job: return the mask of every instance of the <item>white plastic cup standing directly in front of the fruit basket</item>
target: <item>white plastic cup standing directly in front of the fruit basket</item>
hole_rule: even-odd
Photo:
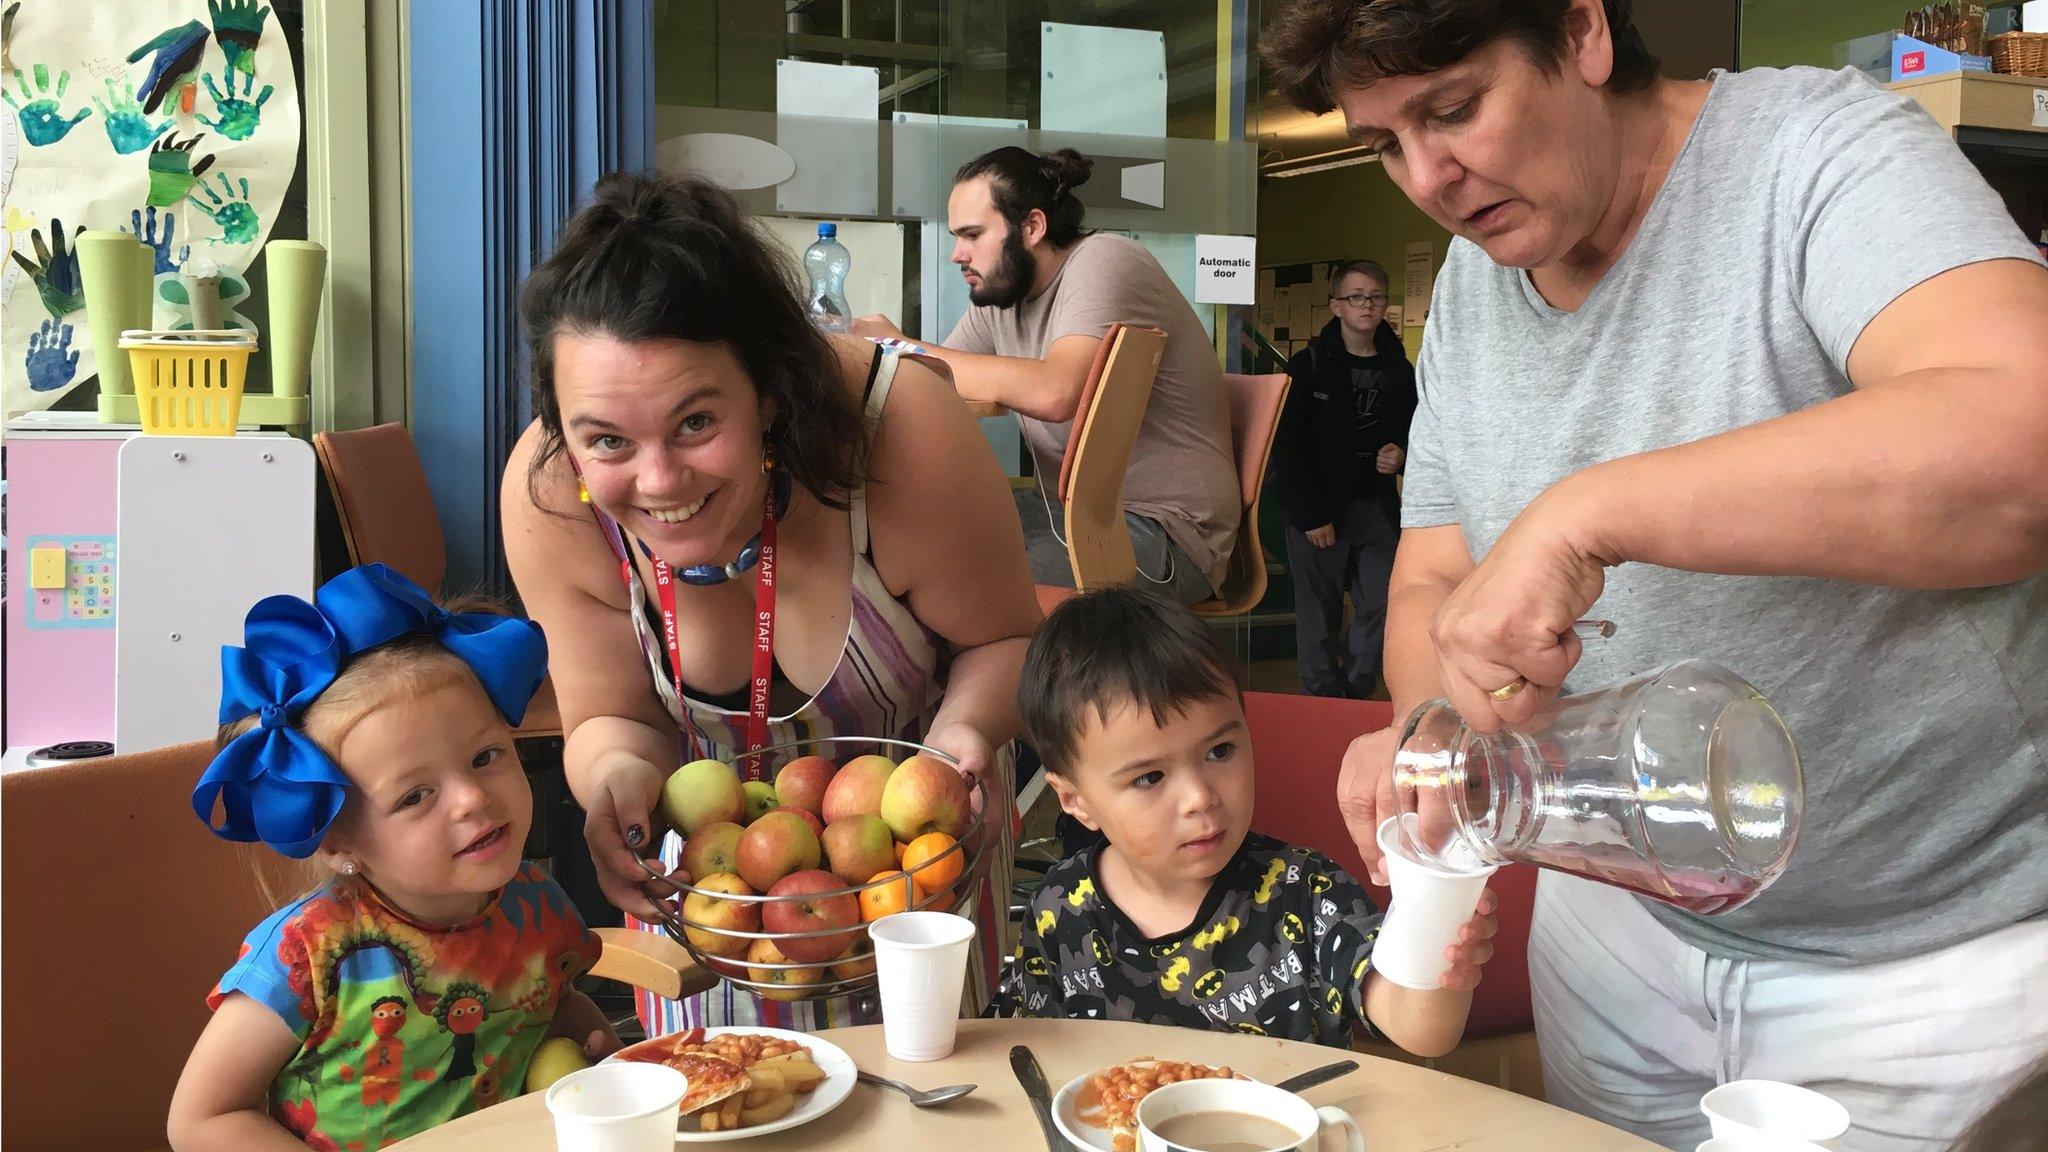
[[[952,912],[895,912],[868,924],[883,994],[883,1045],[895,1060],[952,1056],[975,922]]]

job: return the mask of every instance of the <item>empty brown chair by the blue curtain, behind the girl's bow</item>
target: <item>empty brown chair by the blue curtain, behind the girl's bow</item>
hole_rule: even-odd
[[[334,494],[350,564],[387,564],[430,592],[449,574],[449,545],[440,535],[426,467],[403,424],[377,424],[350,433],[313,433],[319,469]],[[518,738],[561,736],[555,683],[526,705]]]

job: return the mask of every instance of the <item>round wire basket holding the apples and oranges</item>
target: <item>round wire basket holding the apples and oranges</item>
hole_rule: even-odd
[[[834,775],[838,775],[840,769],[868,754],[891,754],[891,758],[901,754],[901,763],[926,756],[948,769],[958,769],[958,760],[936,748],[874,736],[793,740],[735,756],[729,763],[741,779],[756,763],[764,767],[762,779],[776,779],[799,758],[823,756],[836,765]],[[834,888],[774,896],[750,888],[735,890],[737,875],[721,873],[717,879],[692,875],[688,883],[674,881],[680,898],[672,906],[674,916],[659,920],[659,927],[698,963],[770,1000],[815,1000],[872,990],[874,951],[866,933],[872,922],[866,914],[870,904],[887,908],[887,898],[893,896],[901,902],[899,910],[905,912],[932,910],[977,918],[975,894],[987,877],[989,851],[997,840],[983,834],[985,806],[987,789],[977,779],[969,785],[967,826],[952,845],[928,859],[913,861],[909,867],[903,867],[899,859],[893,865],[895,871],[885,871],[862,883],[840,879]],[[897,851],[901,853],[901,849],[899,842]],[[823,912],[807,912],[805,906]],[[852,916],[846,912],[848,906],[854,910]],[[838,910],[836,922],[817,929],[774,931],[768,924],[768,920],[803,922],[803,916],[813,914],[831,918],[831,910]],[[774,955],[762,955],[758,941],[768,941]],[[791,957],[791,949],[799,957]]]

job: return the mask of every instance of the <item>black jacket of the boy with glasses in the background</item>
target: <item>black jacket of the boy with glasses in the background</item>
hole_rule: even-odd
[[[1286,365],[1294,383],[1274,439],[1274,488],[1296,531],[1335,523],[1343,504],[1354,498],[1376,498],[1389,515],[1399,508],[1395,478],[1378,474],[1372,457],[1380,445],[1401,445],[1407,451],[1409,422],[1415,420],[1415,367],[1384,320],[1372,344],[1384,375],[1372,402],[1372,420],[1364,428],[1352,396],[1352,367],[1358,361],[1343,351],[1335,318]]]

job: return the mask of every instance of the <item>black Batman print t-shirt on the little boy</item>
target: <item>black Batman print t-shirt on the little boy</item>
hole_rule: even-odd
[[[1032,896],[1006,1009],[1350,1047],[1380,912],[1329,857],[1251,832],[1180,933],[1145,937],[1102,892],[1094,847]]]

